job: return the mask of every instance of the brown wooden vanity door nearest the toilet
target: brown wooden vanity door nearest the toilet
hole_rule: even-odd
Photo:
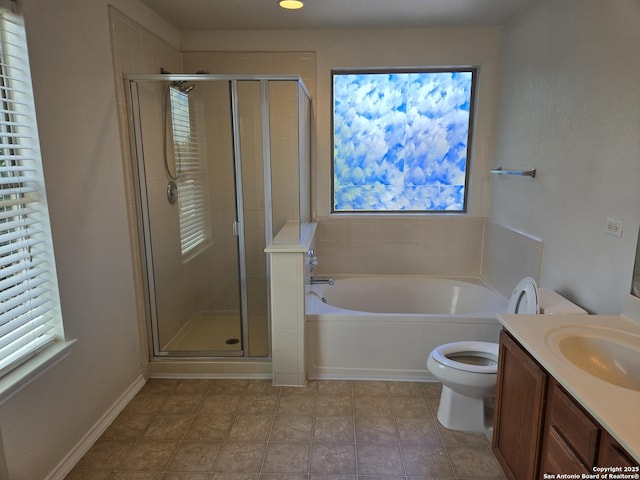
[[[493,451],[512,480],[537,479],[547,374],[509,334],[500,334]]]

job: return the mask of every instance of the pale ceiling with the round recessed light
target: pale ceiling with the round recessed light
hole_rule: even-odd
[[[502,25],[535,0],[141,0],[180,30],[412,28]]]

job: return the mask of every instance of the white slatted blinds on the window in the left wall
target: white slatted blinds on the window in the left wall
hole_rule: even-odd
[[[64,340],[22,17],[0,9],[0,377]]]

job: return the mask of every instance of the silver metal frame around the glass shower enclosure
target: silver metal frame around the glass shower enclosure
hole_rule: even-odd
[[[238,269],[240,282],[240,327],[242,349],[207,350],[202,352],[167,352],[163,351],[158,339],[158,312],[155,291],[155,276],[153,268],[153,256],[151,239],[148,232],[151,231],[150,215],[147,197],[147,185],[144,164],[144,145],[142,141],[142,126],[140,104],[138,98],[138,82],[211,82],[226,81],[229,83],[229,95],[231,103],[233,162],[235,171],[236,188],[236,222],[233,228],[237,228],[238,245]],[[305,93],[309,93],[298,75],[221,75],[221,74],[127,74],[124,76],[125,91],[129,102],[129,135],[134,170],[134,184],[136,185],[136,204],[138,207],[138,230],[140,232],[140,252],[143,269],[143,293],[145,295],[145,317],[147,326],[147,340],[151,358],[171,359],[185,361],[194,359],[235,358],[237,360],[267,359],[272,356],[271,351],[271,295],[270,282],[267,281],[267,356],[251,357],[249,345],[249,319],[247,299],[247,272],[246,272],[246,245],[244,235],[244,210],[242,191],[242,152],[240,148],[240,120],[238,112],[238,82],[259,81],[260,84],[260,111],[261,111],[261,135],[262,135],[262,161],[264,173],[264,216],[265,216],[265,245],[273,239],[273,212],[271,196],[271,139],[269,128],[269,82],[270,81],[295,81],[302,85]],[[299,100],[298,100],[299,101]],[[265,262],[267,280],[271,278],[269,262]]]

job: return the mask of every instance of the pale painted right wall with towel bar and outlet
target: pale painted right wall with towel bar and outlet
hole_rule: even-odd
[[[640,219],[640,3],[543,0],[505,31],[491,217],[544,243],[540,283],[619,313]],[[607,217],[622,238],[604,233]]]

